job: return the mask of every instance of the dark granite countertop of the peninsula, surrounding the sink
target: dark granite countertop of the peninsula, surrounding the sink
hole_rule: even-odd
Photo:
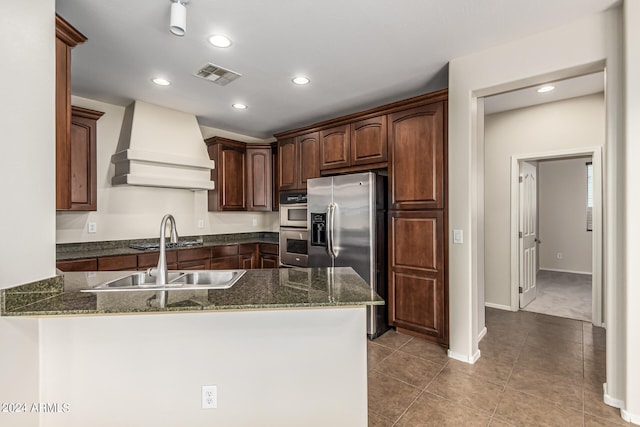
[[[382,305],[350,267],[247,270],[229,289],[81,292],[134,272],[69,272],[0,291],[2,316],[69,316]],[[159,294],[166,292],[161,307]]]

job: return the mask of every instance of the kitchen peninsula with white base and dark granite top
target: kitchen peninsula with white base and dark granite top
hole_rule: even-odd
[[[81,292],[131,273],[1,291],[2,316],[39,318],[40,399],[69,408],[46,425],[367,424],[365,309],[383,301],[351,268],[248,270],[164,306],[155,289]]]

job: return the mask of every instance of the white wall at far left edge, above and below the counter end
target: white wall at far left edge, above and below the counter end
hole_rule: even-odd
[[[0,288],[55,272],[55,11],[53,0],[0,2]],[[0,317],[0,402],[38,401],[38,321]],[[37,426],[37,413],[0,412]]]

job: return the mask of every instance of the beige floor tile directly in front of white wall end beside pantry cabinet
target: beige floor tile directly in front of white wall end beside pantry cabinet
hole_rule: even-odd
[[[445,368],[429,384],[427,391],[489,414],[498,405],[502,386]]]

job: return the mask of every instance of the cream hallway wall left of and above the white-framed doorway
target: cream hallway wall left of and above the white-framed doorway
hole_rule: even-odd
[[[511,157],[602,146],[604,119],[601,93],[485,117],[485,302],[511,305]]]

